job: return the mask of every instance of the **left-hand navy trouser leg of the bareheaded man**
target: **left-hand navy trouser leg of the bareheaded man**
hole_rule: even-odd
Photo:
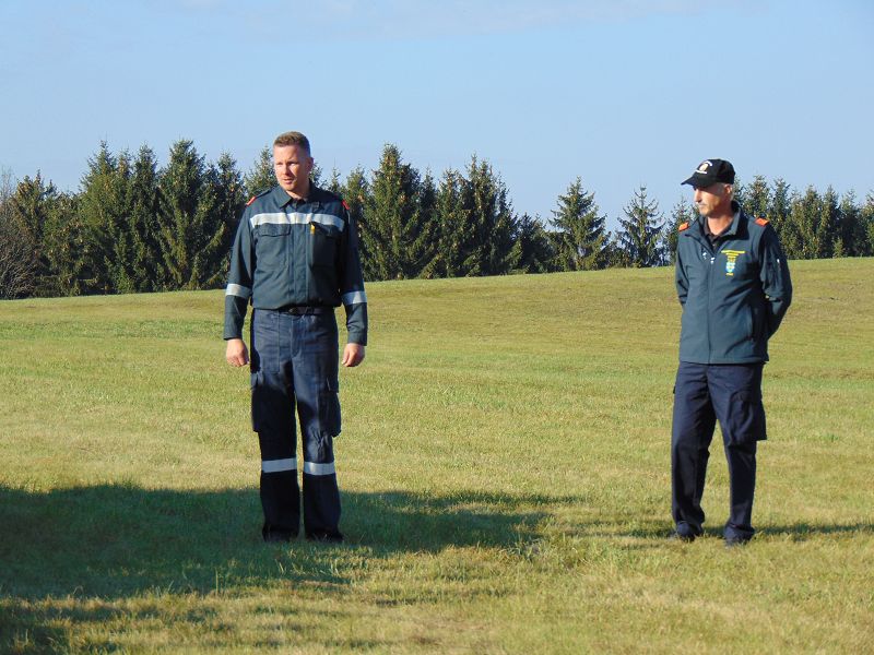
[[[294,537],[300,524],[300,489],[295,458],[294,403],[280,361],[281,331],[275,312],[252,317],[252,427],[261,449],[263,536]],[[286,337],[287,338],[287,337]]]

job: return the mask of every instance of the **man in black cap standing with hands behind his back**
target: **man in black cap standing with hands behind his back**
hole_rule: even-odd
[[[676,249],[683,323],[671,440],[672,537],[693,541],[702,533],[705,474],[719,419],[731,485],[724,531],[731,547],[754,533],[756,444],[766,439],[761,369],[768,338],[792,300],[792,283],[777,233],[733,200],[729,162],[701,162],[683,183],[695,189],[700,217],[680,226]]]

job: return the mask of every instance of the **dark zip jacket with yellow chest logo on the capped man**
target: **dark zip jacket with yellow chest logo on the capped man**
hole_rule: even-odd
[[[680,360],[756,364],[792,301],[792,282],[777,233],[736,203],[731,226],[711,245],[698,218],[681,226],[676,289],[683,305]]]

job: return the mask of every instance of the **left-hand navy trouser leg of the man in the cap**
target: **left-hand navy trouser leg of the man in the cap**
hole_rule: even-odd
[[[701,498],[714,428],[707,366],[681,362],[671,430],[671,513],[678,528],[686,524],[694,534],[705,520]]]

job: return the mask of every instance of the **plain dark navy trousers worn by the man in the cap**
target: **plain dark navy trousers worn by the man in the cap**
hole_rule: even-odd
[[[702,532],[701,497],[718,419],[731,486],[724,535],[727,539],[753,536],[756,444],[766,439],[763,366],[680,362],[671,436],[671,504],[677,533]]]

